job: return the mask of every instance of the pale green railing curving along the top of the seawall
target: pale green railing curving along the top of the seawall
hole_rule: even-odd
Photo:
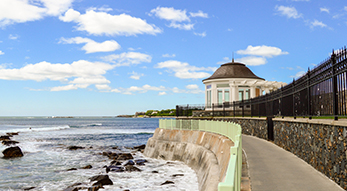
[[[210,120],[160,119],[159,128],[176,130],[198,130],[224,135],[234,142],[230,148],[229,165],[225,181],[218,184],[219,191],[240,191],[242,172],[241,126],[232,122]]]

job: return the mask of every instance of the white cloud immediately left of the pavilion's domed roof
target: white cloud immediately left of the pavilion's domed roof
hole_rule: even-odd
[[[215,67],[196,67],[191,66],[188,63],[183,63],[176,60],[169,60],[165,62],[160,62],[156,66],[156,68],[167,68],[168,72],[174,72],[177,78],[181,79],[199,79],[199,78],[207,78],[211,74],[206,72],[197,72],[197,71],[215,71],[217,68]]]

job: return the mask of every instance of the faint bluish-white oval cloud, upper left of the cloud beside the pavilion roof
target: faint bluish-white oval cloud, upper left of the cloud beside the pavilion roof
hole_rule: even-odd
[[[101,59],[115,63],[115,66],[130,66],[140,64],[142,62],[151,62],[152,57],[147,54],[139,52],[124,52],[122,54],[111,54],[109,56],[102,57]]]

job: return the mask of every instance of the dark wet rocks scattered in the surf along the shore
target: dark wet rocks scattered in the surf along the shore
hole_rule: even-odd
[[[11,140],[11,138],[15,135],[18,135],[18,133],[8,133],[6,135],[0,136],[0,140],[2,141],[2,144],[5,146],[8,146],[4,151],[4,157],[3,159],[11,160],[12,158],[17,157],[23,157],[24,154],[21,151],[21,149],[16,146],[19,142]],[[92,165],[86,165],[83,167],[73,167],[66,169],[65,171],[77,171],[77,170],[83,170],[83,169],[94,169],[94,168],[100,168],[99,172],[95,174],[94,176],[89,177],[83,182],[77,182],[74,184],[71,184],[65,188],[61,188],[63,191],[78,191],[78,190],[87,190],[87,191],[97,191],[100,189],[105,188],[104,186],[112,186],[114,185],[114,180],[112,177],[109,176],[109,174],[113,173],[133,173],[133,172],[141,172],[141,168],[143,169],[144,166],[146,166],[148,162],[145,158],[138,158],[138,156],[135,156],[136,153],[144,152],[145,145],[139,145],[134,146],[132,148],[126,148],[127,151],[123,151],[122,149],[119,149],[117,146],[110,147],[109,149],[104,148],[104,151],[100,151],[99,153],[95,153],[96,155],[100,157],[104,157],[105,165],[98,165],[99,167],[93,167]],[[82,147],[82,146],[66,146],[65,149],[68,151],[76,151],[80,149],[91,149]],[[24,156],[25,157],[25,156]],[[170,165],[172,162],[167,162],[168,165]],[[102,166],[102,167],[101,167]],[[141,167],[141,168],[140,168]],[[60,171],[58,172],[60,173]],[[160,173],[158,170],[152,170],[152,174]],[[131,176],[131,175],[130,175]],[[171,180],[163,180],[162,183],[160,183],[160,186],[168,185],[168,184],[175,184],[173,179],[175,177],[184,176],[184,174],[172,174]],[[120,187],[121,188],[121,187]],[[36,190],[34,185],[23,187],[22,190]],[[119,189],[119,187],[117,187]],[[123,191],[129,191],[129,189],[124,189]]]

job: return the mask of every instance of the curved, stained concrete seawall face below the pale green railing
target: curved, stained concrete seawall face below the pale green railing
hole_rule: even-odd
[[[224,180],[233,145],[219,134],[158,128],[148,140],[144,155],[184,162],[197,173],[199,190],[210,191],[218,190],[218,183]]]

